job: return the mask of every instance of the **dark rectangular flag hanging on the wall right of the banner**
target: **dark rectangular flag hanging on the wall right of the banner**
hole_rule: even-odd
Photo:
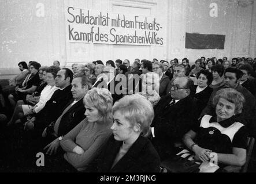
[[[185,48],[224,49],[225,35],[185,33]]]

